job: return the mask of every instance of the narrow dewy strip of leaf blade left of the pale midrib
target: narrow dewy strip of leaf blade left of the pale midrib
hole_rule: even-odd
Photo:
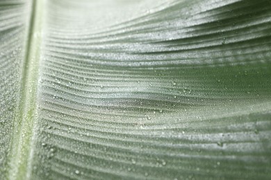
[[[8,152],[21,98],[28,12],[26,1],[0,1],[0,179],[6,179]]]

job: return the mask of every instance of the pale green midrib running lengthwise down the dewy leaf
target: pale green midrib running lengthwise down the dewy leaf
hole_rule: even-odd
[[[38,85],[38,64],[40,61],[40,43],[42,26],[43,0],[30,2],[28,30],[26,32],[26,45],[24,62],[22,66],[21,94],[15,116],[15,127],[10,144],[10,168],[8,179],[26,179],[31,152],[31,137],[36,109],[36,96]]]

